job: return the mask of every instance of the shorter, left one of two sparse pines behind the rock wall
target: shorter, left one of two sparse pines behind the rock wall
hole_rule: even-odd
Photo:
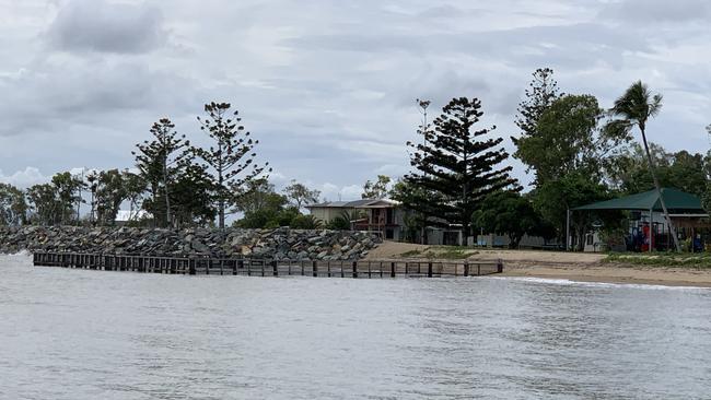
[[[143,141],[132,152],[136,156],[136,166],[141,177],[149,183],[152,201],[144,202],[153,214],[155,221],[163,226],[173,226],[171,208],[171,186],[177,174],[193,162],[190,142],[185,136],[178,136],[175,125],[168,118],[154,122],[150,130],[152,141]],[[158,202],[162,197],[162,204]]]

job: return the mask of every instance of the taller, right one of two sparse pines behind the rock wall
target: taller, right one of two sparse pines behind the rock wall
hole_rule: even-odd
[[[209,149],[196,149],[196,154],[207,164],[214,184],[220,228],[224,227],[225,209],[235,202],[235,191],[265,172],[269,163],[255,163],[255,145],[250,133],[240,125],[238,111],[230,111],[229,103],[205,105],[206,118],[198,117],[200,129],[214,142]],[[271,172],[271,168],[268,169]]]

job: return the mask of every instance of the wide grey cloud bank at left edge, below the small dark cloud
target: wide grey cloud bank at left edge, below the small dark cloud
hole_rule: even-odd
[[[138,61],[43,61],[0,78],[0,136],[103,123],[127,110],[167,114],[186,109],[197,93],[184,78],[151,71]]]

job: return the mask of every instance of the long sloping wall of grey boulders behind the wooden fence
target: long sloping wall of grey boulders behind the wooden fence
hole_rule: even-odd
[[[133,227],[0,227],[0,252],[72,251],[143,256],[356,260],[377,246],[362,232],[277,230],[147,230]]]

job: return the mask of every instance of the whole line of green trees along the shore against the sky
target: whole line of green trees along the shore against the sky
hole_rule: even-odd
[[[431,121],[430,102],[417,105],[423,118],[419,139],[407,143],[412,170],[394,183],[381,175],[363,187],[363,198],[403,203],[410,240],[424,240],[427,227],[456,226],[464,237],[481,231],[508,234],[512,246],[525,234],[562,243],[568,209],[655,186],[710,203],[711,153],[667,152],[646,141],[662,96],[642,82],[604,108],[593,95],[562,94],[552,70],[536,70],[518,104],[513,155],[496,127],[479,126],[478,98],[453,98]],[[269,164],[257,163],[258,140],[230,104],[207,104],[198,127],[210,140],[207,148],[194,146],[170,119],[160,119],[151,137],[137,144],[132,170],[60,173],[25,191],[2,184],[0,224],[112,225],[128,204],[129,224],[222,227],[225,215],[237,212],[242,217],[235,224],[244,227],[323,226],[302,214],[320,193],[296,181],[276,192]],[[511,177],[511,156],[533,175],[529,190]],[[82,213],[85,203],[89,211]],[[343,215],[328,227],[349,228],[352,217]],[[622,221],[619,213],[576,213],[572,228],[580,244],[593,224],[602,223],[611,236]]]

